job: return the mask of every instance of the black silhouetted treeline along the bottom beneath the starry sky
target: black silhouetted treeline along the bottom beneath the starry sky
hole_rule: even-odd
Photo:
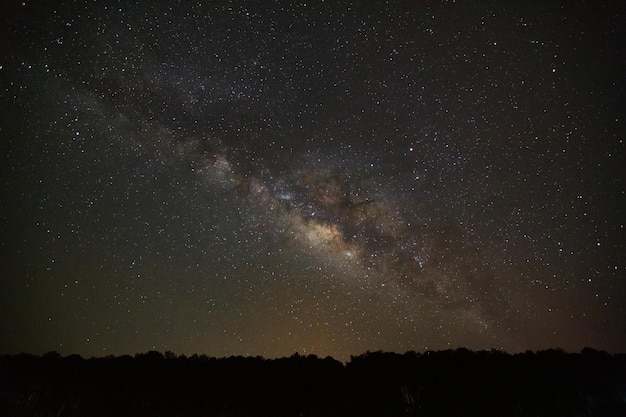
[[[626,416],[626,355],[0,356],[0,416]]]

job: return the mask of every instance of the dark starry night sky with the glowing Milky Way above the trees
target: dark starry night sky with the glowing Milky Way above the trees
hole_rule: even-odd
[[[8,3],[0,353],[626,351],[623,2]]]

